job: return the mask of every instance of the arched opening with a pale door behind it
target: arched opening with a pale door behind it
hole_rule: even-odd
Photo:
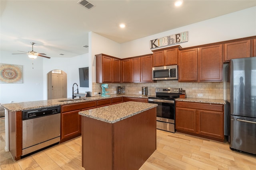
[[[67,98],[67,74],[62,70],[47,73],[47,99]]]

